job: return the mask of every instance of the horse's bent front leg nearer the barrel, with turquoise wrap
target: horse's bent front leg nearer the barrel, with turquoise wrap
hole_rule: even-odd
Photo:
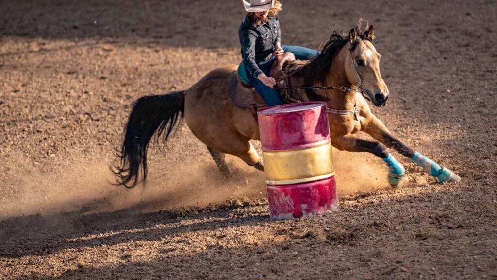
[[[388,152],[388,148],[376,141],[368,141],[360,139],[354,135],[347,134],[343,136],[336,136],[331,139],[331,143],[338,149],[355,152],[370,152],[383,159],[389,166],[388,182],[396,186],[404,178],[406,169],[404,166],[395,159],[395,157]]]

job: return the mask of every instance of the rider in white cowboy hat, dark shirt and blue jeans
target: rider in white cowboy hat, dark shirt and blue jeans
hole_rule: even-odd
[[[300,46],[281,45],[278,0],[243,0],[248,11],[238,36],[242,44],[242,59],[250,83],[268,106],[281,104],[278,92],[273,89],[276,81],[268,77],[275,58],[290,51],[296,59],[307,60],[318,51]]]

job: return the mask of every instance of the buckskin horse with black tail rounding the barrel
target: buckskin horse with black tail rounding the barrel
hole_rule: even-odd
[[[388,181],[392,186],[403,181],[405,168],[389,148],[410,158],[440,182],[459,181],[457,174],[397,139],[371,113],[368,101],[383,107],[389,99],[389,90],[380,74],[381,56],[373,45],[374,38],[373,25],[364,32],[357,25],[350,29],[348,36],[333,30],[315,58],[304,65],[287,65],[292,68],[291,73],[287,72],[288,84],[306,88],[288,90],[290,100],[326,102],[332,146],[380,157],[389,168]],[[167,145],[169,136],[183,121],[207,146],[225,177],[233,174],[225,161],[226,153],[263,170],[259,155],[249,142],[260,139],[257,121],[248,110],[237,107],[228,94],[228,83],[237,75],[237,66],[215,68],[186,90],[140,97],[130,113],[122,146],[117,149],[117,163],[111,167],[117,184],[130,188],[145,182],[147,150],[154,135],[155,142]],[[359,131],[375,140],[360,139],[355,135]]]

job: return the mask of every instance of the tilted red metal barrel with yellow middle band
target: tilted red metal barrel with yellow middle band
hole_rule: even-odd
[[[257,115],[271,218],[337,210],[326,103],[273,106]]]

